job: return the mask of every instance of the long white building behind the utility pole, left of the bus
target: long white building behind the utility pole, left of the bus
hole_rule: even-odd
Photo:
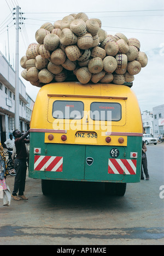
[[[26,93],[26,87],[19,79],[20,131],[29,127],[34,101]],[[9,139],[14,130],[15,116],[15,71],[0,52],[0,141]]]

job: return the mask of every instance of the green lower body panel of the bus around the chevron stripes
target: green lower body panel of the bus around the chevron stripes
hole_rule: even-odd
[[[77,181],[109,181],[123,183],[137,183],[140,181],[142,137],[128,136],[128,146],[98,146],[44,143],[44,133],[31,133],[30,135],[30,164],[29,177],[34,179],[50,180],[77,180]],[[34,147],[41,148],[42,156],[63,157],[62,172],[48,172],[34,170]],[[130,158],[130,152],[138,152],[136,174],[109,174],[108,160],[110,150],[119,150],[119,159]],[[86,158],[92,157],[93,163],[88,166]],[[117,159],[117,158],[115,158]]]

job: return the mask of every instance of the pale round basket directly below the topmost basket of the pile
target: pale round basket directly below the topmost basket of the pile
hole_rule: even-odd
[[[86,34],[86,24],[82,19],[74,19],[70,24],[71,31],[78,37],[84,36]]]

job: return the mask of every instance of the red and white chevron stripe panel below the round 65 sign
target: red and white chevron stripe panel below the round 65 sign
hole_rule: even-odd
[[[137,160],[110,158],[108,161],[109,174],[136,174]]]

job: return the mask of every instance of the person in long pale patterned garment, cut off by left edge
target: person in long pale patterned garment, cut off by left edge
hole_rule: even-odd
[[[3,206],[9,206],[11,193],[5,179],[8,175],[7,161],[4,156],[3,146],[0,141],[0,198],[3,199]]]

